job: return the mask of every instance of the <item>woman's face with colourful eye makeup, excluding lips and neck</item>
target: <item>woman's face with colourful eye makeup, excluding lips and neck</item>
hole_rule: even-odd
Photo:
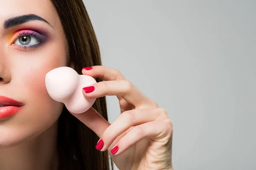
[[[0,96],[23,102],[0,119],[0,148],[49,129],[63,104],[47,93],[45,75],[67,66],[67,41],[50,0],[0,0]]]

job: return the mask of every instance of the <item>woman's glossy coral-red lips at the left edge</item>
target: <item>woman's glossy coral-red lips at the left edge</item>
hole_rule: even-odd
[[[16,114],[23,108],[24,104],[5,96],[0,96],[0,119]]]

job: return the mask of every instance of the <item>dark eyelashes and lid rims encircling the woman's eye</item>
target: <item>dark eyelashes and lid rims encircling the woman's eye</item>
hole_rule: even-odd
[[[35,37],[38,39],[38,43],[36,43],[35,45],[15,45],[15,42],[21,37],[21,36],[24,36],[24,35],[29,35],[29,36],[32,36],[32,37]],[[17,35],[15,35],[15,40],[13,41],[12,45],[15,45],[17,46],[18,48],[22,48],[24,50],[26,50],[27,48],[29,49],[34,49],[34,48],[37,48],[39,46],[41,46],[43,44],[43,42],[46,40],[46,38],[43,36],[43,35],[40,35],[38,33],[36,33],[35,31],[32,31],[32,30],[24,30],[20,33],[18,33]]]

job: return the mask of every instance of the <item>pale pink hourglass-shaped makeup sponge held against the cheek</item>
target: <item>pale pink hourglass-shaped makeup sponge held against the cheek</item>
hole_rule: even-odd
[[[63,102],[72,113],[83,113],[93,105],[96,99],[86,98],[82,88],[95,83],[93,77],[79,75],[70,67],[55,68],[45,76],[49,96],[57,102]]]

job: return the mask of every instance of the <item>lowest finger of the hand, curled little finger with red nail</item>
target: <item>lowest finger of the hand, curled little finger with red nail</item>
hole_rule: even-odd
[[[165,145],[171,139],[172,131],[171,119],[159,119],[147,122],[132,128],[113,148],[109,148],[109,150],[111,149],[110,152],[112,154],[119,155],[144,138],[151,138]]]

